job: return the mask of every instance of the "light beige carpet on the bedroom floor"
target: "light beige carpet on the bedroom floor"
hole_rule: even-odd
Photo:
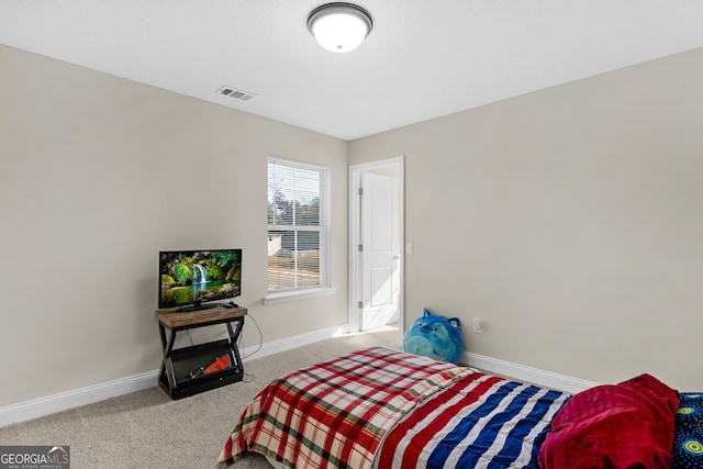
[[[72,469],[214,468],[235,421],[272,379],[371,346],[399,348],[399,331],[380,327],[252,357],[245,362],[244,381],[178,401],[154,387],[0,427],[0,445],[69,445]],[[247,456],[235,467],[270,469],[256,456]]]

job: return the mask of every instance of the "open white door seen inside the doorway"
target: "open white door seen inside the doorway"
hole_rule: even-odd
[[[361,331],[400,319],[398,179],[361,175]]]

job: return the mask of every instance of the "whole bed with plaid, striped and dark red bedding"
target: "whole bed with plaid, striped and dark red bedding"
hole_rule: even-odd
[[[303,469],[703,468],[701,404],[648,375],[572,397],[372,347],[268,384],[217,466],[258,453]]]

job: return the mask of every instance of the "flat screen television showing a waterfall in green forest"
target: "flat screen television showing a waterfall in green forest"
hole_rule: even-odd
[[[242,249],[161,250],[158,308],[197,311],[242,291]]]

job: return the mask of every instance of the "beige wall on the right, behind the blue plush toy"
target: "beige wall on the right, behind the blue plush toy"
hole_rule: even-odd
[[[405,155],[405,319],[469,351],[703,389],[703,49],[350,143]],[[471,319],[484,322],[471,332]]]

